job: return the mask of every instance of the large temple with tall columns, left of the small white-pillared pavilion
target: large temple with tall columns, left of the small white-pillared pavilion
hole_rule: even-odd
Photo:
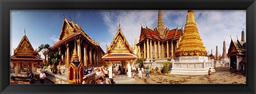
[[[52,50],[58,51],[61,55],[62,59],[59,63],[61,67],[67,69],[71,61],[71,56],[74,53],[74,48],[77,49],[78,61],[83,63],[83,66],[99,66],[105,64],[101,59],[105,52],[101,49],[99,43],[86,35],[81,29],[81,26],[78,27],[77,23],[74,23],[71,18],[68,21],[64,16],[59,41],[51,47]]]

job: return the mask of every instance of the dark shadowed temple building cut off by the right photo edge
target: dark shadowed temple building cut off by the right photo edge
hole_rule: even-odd
[[[231,42],[228,49],[229,57],[229,69],[233,68],[236,70],[245,70],[246,69],[246,42],[245,42],[245,33],[242,31],[241,41],[233,41],[231,38]]]

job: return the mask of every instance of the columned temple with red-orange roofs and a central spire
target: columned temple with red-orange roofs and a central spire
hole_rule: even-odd
[[[138,58],[146,58],[146,62],[153,62],[153,53],[156,56],[156,61],[167,61],[175,57],[175,50],[179,47],[179,41],[182,35],[182,28],[174,28],[170,30],[164,27],[162,11],[158,11],[158,24],[153,30],[148,27],[141,26],[140,39],[137,44],[138,53],[134,53]]]

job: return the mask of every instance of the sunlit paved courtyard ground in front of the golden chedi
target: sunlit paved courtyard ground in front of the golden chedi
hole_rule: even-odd
[[[215,67],[216,72],[212,73],[211,78],[207,75],[188,76],[188,75],[162,75],[150,74],[150,78],[143,74],[142,79],[135,74],[136,81],[118,84],[246,84],[245,72],[236,72],[228,67]]]

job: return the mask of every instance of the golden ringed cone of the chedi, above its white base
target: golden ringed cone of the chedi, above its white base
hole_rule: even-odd
[[[181,56],[207,56],[204,43],[200,38],[196,27],[195,17],[192,10],[188,10],[187,20],[179,48],[175,51],[175,55]]]

